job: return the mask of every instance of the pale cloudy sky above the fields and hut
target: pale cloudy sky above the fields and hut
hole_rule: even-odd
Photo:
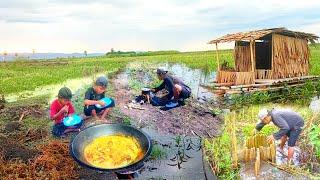
[[[320,1],[0,1],[0,53],[200,51],[228,33],[274,27],[319,36]]]

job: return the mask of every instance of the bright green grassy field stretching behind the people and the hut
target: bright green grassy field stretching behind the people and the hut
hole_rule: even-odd
[[[311,74],[320,74],[320,45],[311,46]],[[221,62],[233,64],[231,50],[219,53]],[[152,61],[183,63],[190,68],[206,71],[216,69],[216,54],[214,51],[186,52],[154,56],[114,57],[104,56],[94,58],[72,58],[50,61],[14,61],[0,63],[0,94],[10,94],[36,87],[57,84],[66,79],[90,76],[96,73],[111,73],[125,67],[132,61]]]

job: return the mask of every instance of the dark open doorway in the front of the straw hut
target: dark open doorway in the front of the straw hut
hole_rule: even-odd
[[[256,69],[271,70],[272,43],[270,40],[255,42]]]

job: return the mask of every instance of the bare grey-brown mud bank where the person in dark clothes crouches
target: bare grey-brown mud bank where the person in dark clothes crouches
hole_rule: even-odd
[[[130,101],[139,94],[129,87],[127,75],[118,74],[112,83],[120,111],[134,119],[138,126],[152,126],[161,134],[214,137],[221,133],[223,122],[211,113],[207,104],[200,104],[190,98],[186,105],[167,111],[151,104],[143,104],[139,108],[128,108]]]

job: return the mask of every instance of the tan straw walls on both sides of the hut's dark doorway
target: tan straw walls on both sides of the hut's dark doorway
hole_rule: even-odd
[[[273,34],[272,51],[272,69],[255,68],[255,78],[281,79],[308,75],[310,51],[307,40]],[[255,46],[253,52],[255,63]],[[234,49],[235,70],[237,72],[251,71],[250,58],[249,44],[239,45],[236,43]]]

